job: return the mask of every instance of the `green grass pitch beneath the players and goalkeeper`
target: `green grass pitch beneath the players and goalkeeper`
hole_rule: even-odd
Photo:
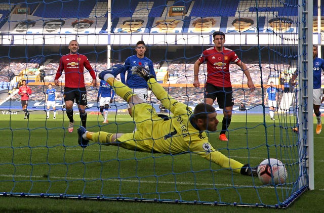
[[[103,124],[101,118],[101,115],[88,114],[88,130],[112,133],[134,130],[129,115],[110,113],[108,124]],[[221,118],[218,115],[218,119]],[[23,120],[22,114],[2,115],[0,192],[273,204],[285,200],[296,179],[295,167],[288,166],[288,182],[291,184],[275,190],[272,186],[262,186],[258,178],[233,174],[196,154],[142,153],[96,143],[82,149],[77,144],[78,115],[74,115],[74,119],[74,132],[69,134],[68,120],[61,112],[55,120],[46,120],[44,114],[31,113],[29,120]],[[293,145],[296,133],[277,120],[273,122],[266,117],[263,122],[263,119],[261,114],[233,115],[230,142],[219,141],[218,132],[211,133],[212,146],[252,166],[267,158],[268,153],[273,158],[296,161],[297,153],[294,152],[297,149]],[[220,129],[220,124],[218,127]],[[321,135],[314,136],[315,177],[322,175],[320,169],[316,169],[323,161],[321,141]],[[323,188],[323,184],[315,179],[316,190],[305,194],[315,191],[323,194]],[[306,195],[297,202],[303,202]],[[17,198],[0,199],[11,202]],[[52,200],[50,202],[57,202]],[[73,205],[75,201],[72,200],[64,202]]]

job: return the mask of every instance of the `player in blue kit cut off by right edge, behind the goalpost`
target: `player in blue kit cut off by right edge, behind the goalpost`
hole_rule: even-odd
[[[318,54],[317,46],[313,45],[313,110],[317,120],[316,134],[320,134],[322,131],[322,122],[320,118],[319,107],[320,104],[323,103],[324,101],[324,96],[323,97],[321,96],[320,87],[321,87],[322,71],[324,71],[324,59],[318,58],[317,54]],[[293,75],[291,82],[294,82],[294,80],[297,78],[297,75],[298,73],[296,72]]]

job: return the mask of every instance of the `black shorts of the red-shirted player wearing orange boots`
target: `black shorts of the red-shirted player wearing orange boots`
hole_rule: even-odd
[[[221,109],[234,105],[233,89],[231,87],[216,87],[213,84],[206,83],[205,98],[211,98],[214,101],[217,98],[218,106]]]

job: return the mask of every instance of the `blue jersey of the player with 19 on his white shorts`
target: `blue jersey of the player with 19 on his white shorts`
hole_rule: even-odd
[[[150,70],[151,75],[156,77],[154,67],[153,67],[153,62],[147,57],[138,58],[136,55],[130,56],[126,59],[124,65],[130,67],[126,71],[120,73],[120,78],[121,78],[120,80],[121,82],[127,84],[129,88],[132,89],[148,88],[147,82],[144,80],[144,78],[132,74],[132,67],[134,66],[143,66],[146,69]],[[126,72],[127,72],[127,79],[125,81]]]

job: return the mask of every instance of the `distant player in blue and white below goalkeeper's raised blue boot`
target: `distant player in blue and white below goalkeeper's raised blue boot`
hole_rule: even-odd
[[[115,96],[115,91],[112,87],[104,80],[100,81],[100,87],[98,91],[97,102],[99,102],[100,113],[103,117],[103,123],[108,123],[107,116],[109,110],[109,104],[112,103],[113,97]],[[105,109],[105,112],[103,111]]]

